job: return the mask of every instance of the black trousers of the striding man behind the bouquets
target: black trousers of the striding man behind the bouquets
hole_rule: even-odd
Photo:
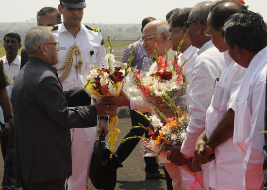
[[[137,114],[134,110],[130,111],[131,113],[131,120],[132,120],[132,126],[138,126],[138,123],[141,123],[145,127],[149,127],[149,121],[142,117],[141,115]],[[144,113],[148,114],[148,113]],[[150,135],[148,135],[148,131],[144,130],[142,128],[132,128],[131,131],[126,134],[124,138],[131,137],[134,135],[137,136],[143,136],[145,133],[145,137],[150,138]],[[131,139],[129,141],[126,141],[124,143],[120,143],[120,145],[117,148],[116,154],[119,161],[123,162],[125,159],[132,153],[135,146],[139,143],[139,138],[137,139]],[[144,157],[146,162],[146,168],[145,171],[149,173],[159,173],[159,165],[156,163],[155,157]]]

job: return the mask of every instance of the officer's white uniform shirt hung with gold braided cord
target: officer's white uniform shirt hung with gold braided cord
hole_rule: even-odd
[[[87,67],[93,64],[101,66],[101,58],[104,58],[105,48],[104,45],[101,45],[102,36],[100,32],[95,32],[87,29],[84,25],[81,24],[80,31],[78,32],[76,38],[74,38],[65,28],[64,23],[58,25],[58,29],[51,31],[56,40],[60,43],[58,52],[59,62],[55,65],[57,68],[60,68],[64,65],[67,53],[69,48],[76,43],[78,48],[82,51],[81,61],[83,64],[80,69],[78,69],[78,74],[84,74]],[[94,51],[94,54],[91,56],[90,51]],[[80,56],[78,55],[78,61],[80,61]],[[75,65],[78,64],[76,61],[76,55],[73,57],[73,63],[71,71],[65,81],[62,82],[63,90],[68,90],[73,87],[82,87],[83,83],[80,80],[79,76],[77,77],[77,71]],[[60,77],[65,70],[57,71],[58,76]]]

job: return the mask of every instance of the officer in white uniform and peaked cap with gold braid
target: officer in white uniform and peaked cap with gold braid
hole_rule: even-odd
[[[105,57],[105,49],[99,30],[86,27],[81,24],[83,8],[86,7],[83,0],[62,1],[58,10],[63,14],[63,23],[52,30],[56,40],[60,43],[58,52],[59,62],[55,66],[61,68],[72,45],[77,45],[81,50],[80,55],[73,55],[71,70],[65,80],[60,77],[64,70],[57,70],[63,90],[73,87],[82,87],[83,83],[78,75],[83,75],[86,69],[92,66],[100,66],[101,58]],[[82,64],[79,64],[82,61]],[[80,62],[81,63],[81,62]],[[76,69],[77,65],[79,66]],[[75,67],[76,66],[76,67]],[[106,122],[100,120],[100,122]],[[71,129],[72,138],[72,175],[67,179],[68,190],[86,190],[89,168],[94,148],[97,127],[84,129]]]

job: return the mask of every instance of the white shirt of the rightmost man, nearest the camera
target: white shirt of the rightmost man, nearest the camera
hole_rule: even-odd
[[[234,146],[243,160],[243,190],[260,190],[263,175],[267,47],[252,58],[234,102]],[[241,187],[240,187],[241,189]]]

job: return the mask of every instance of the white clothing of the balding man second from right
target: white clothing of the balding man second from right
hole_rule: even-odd
[[[246,68],[241,67],[224,52],[226,68],[216,81],[213,99],[206,114],[206,135],[217,124],[234,102],[241,85]],[[233,137],[215,148],[216,160],[209,163],[209,187],[215,190],[238,190],[242,186],[242,159],[233,144]],[[234,183],[229,183],[234,181]]]

